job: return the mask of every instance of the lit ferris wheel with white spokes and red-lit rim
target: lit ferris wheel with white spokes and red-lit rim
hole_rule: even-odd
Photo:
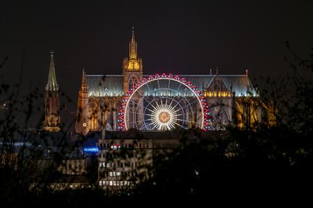
[[[120,130],[173,130],[207,126],[207,107],[190,82],[165,73],[143,78],[127,93]]]

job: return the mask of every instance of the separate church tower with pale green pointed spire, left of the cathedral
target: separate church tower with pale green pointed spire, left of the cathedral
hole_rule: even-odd
[[[58,83],[54,70],[54,52],[50,52],[50,69],[45,91],[45,125],[44,130],[58,132],[60,128],[60,101],[58,98]]]

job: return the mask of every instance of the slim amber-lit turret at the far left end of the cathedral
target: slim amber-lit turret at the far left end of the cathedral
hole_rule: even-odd
[[[87,135],[89,132],[89,118],[88,118],[88,83],[86,80],[86,73],[83,69],[81,76],[81,88],[79,89],[79,98],[77,101],[77,121],[75,130],[81,135]]]

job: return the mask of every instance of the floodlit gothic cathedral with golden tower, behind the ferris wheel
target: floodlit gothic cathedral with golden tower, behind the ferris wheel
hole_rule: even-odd
[[[88,75],[83,71],[76,132],[86,135],[90,131],[124,130],[121,127],[122,119],[120,119],[122,104],[125,102],[123,100],[129,90],[136,88],[138,82],[143,83],[143,80],[149,77],[150,75],[143,75],[143,60],[138,58],[133,28],[129,42],[129,58],[125,58],[122,62],[121,75]],[[244,127],[261,121],[262,104],[259,103],[257,90],[248,78],[248,71],[243,75],[220,75],[216,69],[215,73],[210,71],[205,75],[179,75],[179,77],[196,86],[199,96],[209,108],[207,112],[209,118],[206,118],[206,122],[209,123],[207,130],[223,130],[227,125]],[[168,88],[172,87],[175,86],[168,86]],[[154,92],[156,91],[153,89],[142,89],[132,97],[132,103],[129,105],[136,108],[137,114],[133,116],[129,112],[125,116],[125,122],[129,128],[136,128],[136,125],[132,124],[135,119],[138,121],[144,119],[145,114],[141,109],[141,106],[144,106],[142,96],[146,97],[145,100],[149,96],[163,96]],[[172,94],[170,96],[178,98],[188,95]],[[196,116],[193,119],[196,120]],[[193,119],[188,120],[188,128],[194,126],[192,125]]]

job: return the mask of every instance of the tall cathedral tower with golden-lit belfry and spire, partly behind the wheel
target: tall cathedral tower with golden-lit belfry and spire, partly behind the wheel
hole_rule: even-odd
[[[137,56],[137,42],[135,40],[134,27],[131,31],[131,41],[129,42],[129,58],[123,60],[124,94],[132,89],[138,81],[143,80],[143,60]],[[127,126],[129,128],[141,128],[143,121],[143,99],[142,92],[138,91],[134,95],[134,103],[129,103],[131,111],[127,116]],[[135,119],[135,118],[138,119]]]

